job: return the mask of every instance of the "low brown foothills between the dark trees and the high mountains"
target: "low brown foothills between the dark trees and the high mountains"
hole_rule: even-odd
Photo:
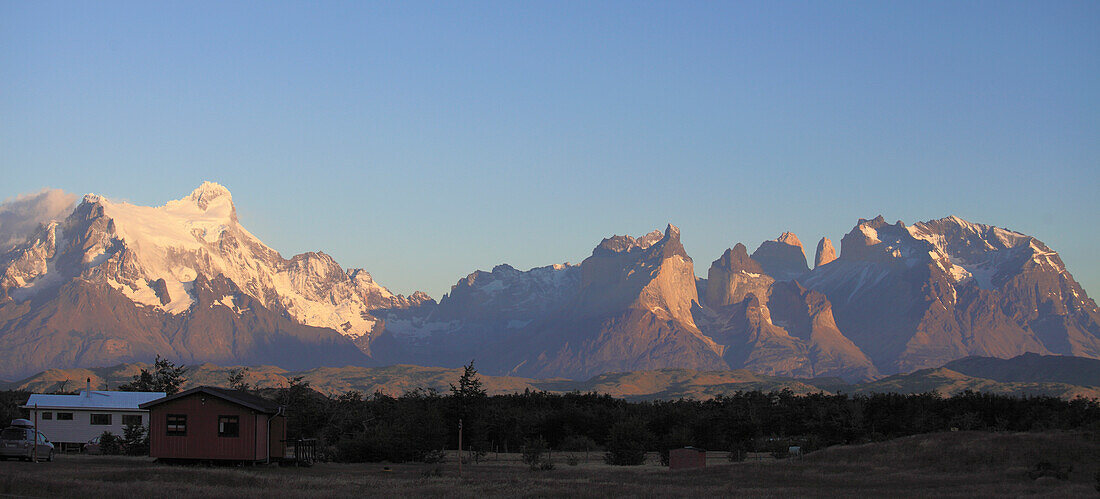
[[[1021,369],[1035,363],[1027,354],[1011,359],[969,357],[967,362],[994,362]],[[1056,357],[1056,356],[1047,356]],[[1070,362],[1087,364],[1091,372],[1100,370],[1100,361],[1068,357]],[[1066,382],[1059,379],[1058,362],[1067,357],[1043,358],[1043,373],[1033,380],[1003,381],[974,376],[952,369],[950,365],[894,375],[876,381],[846,384],[837,378],[784,378],[756,374],[746,369],[700,370],[662,368],[641,372],[602,373],[583,380],[564,378],[525,378],[515,376],[482,375],[481,379],[490,395],[506,395],[531,391],[548,392],[596,392],[630,400],[674,400],[679,398],[710,399],[737,391],[781,391],[795,395],[850,393],[869,395],[876,392],[924,393],[936,392],[952,396],[964,390],[991,393],[1025,396],[1053,396],[1065,399],[1076,397],[1100,398],[1100,387]],[[129,382],[141,369],[150,364],[120,364],[110,367],[48,369],[24,379],[0,382],[0,389],[19,389],[33,392],[50,392],[59,389],[75,391],[85,387],[90,379],[94,389],[109,389]],[[198,385],[224,386],[231,370],[241,366],[219,366],[211,363],[191,365],[184,388]],[[1034,367],[1031,367],[1034,369]],[[1035,370],[1033,370],[1034,373]],[[393,365],[384,367],[318,367],[305,370],[288,370],[277,366],[249,366],[243,381],[254,388],[283,388],[289,379],[301,376],[310,387],[330,397],[358,390],[365,395],[383,392],[400,396],[417,389],[447,392],[450,384],[463,373],[461,367],[422,367]],[[1040,380],[1046,378],[1052,380]]]

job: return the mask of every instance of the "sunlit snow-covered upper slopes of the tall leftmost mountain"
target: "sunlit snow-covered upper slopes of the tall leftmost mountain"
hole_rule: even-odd
[[[66,221],[73,226],[64,229],[87,241],[54,244],[42,235],[41,250],[23,252],[28,262],[0,267],[0,284],[12,288],[12,296],[26,297],[78,274],[105,279],[140,307],[178,314],[195,303],[197,278],[220,275],[268,309],[351,337],[371,334],[376,322],[371,310],[407,303],[366,271],[345,271],[323,253],[284,258],[241,226],[232,195],[216,182],[160,207],[99,195],[84,201]],[[79,254],[58,260],[59,246]],[[58,268],[55,260],[79,265]]]

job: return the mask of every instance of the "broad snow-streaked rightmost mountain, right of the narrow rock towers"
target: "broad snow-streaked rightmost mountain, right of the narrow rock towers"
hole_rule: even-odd
[[[957,217],[860,220],[840,256],[800,279],[883,372],[968,355],[1100,358],[1097,304],[1041,241]]]

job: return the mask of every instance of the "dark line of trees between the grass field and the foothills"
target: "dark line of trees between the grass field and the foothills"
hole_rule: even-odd
[[[301,377],[284,388],[254,389],[246,369],[231,372],[227,385],[286,407],[288,440],[317,439],[328,457],[345,462],[439,459],[463,450],[587,451],[609,464],[640,464],[646,452],[695,446],[728,451],[732,459],[751,452],[785,455],[838,444],[875,442],[919,433],[1100,429],[1100,401],[1056,397],[1011,397],[964,391],[919,395],[738,391],[707,400],[627,401],[594,392],[529,391],[486,395],[473,363],[449,392],[416,389],[400,396],[348,391],[328,397]],[[122,389],[175,392],[186,369],[157,359]],[[25,392],[0,393],[0,414]],[[127,435],[130,436],[130,435]],[[138,436],[138,435],[134,435]],[[140,439],[140,436],[138,436]],[[129,439],[127,439],[129,440]],[[140,447],[138,447],[140,448]],[[535,459],[537,462],[537,459]],[[532,464],[532,467],[536,464]]]

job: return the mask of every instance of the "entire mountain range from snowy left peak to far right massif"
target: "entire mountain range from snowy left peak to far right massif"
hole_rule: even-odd
[[[31,226],[22,223],[20,226]],[[0,377],[147,362],[416,364],[525,378],[666,368],[867,381],[968,356],[1100,358],[1100,311],[1038,240],[957,217],[859,220],[811,268],[798,236],[697,277],[668,225],[580,264],[498,265],[438,302],[249,233],[228,189],[88,195],[0,255]]]

